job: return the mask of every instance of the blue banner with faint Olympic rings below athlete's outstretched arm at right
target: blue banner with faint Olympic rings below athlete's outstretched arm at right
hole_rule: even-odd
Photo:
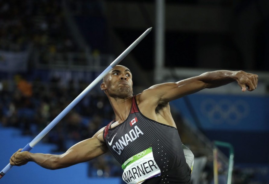
[[[204,130],[269,131],[269,97],[192,94],[187,97]],[[170,102],[195,124],[183,98]]]

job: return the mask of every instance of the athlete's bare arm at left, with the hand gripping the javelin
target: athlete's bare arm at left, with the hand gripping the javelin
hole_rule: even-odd
[[[61,169],[92,160],[107,152],[107,147],[103,140],[103,130],[104,128],[100,129],[92,138],[75,144],[61,155],[30,153],[28,151],[20,152],[20,149],[11,156],[10,164],[21,166],[32,161],[46,169]]]

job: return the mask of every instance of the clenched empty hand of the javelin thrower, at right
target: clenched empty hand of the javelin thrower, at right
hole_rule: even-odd
[[[236,81],[238,85],[241,87],[242,92],[253,91],[257,88],[258,85],[258,75],[252,73],[246,73],[244,71],[238,71],[236,73]]]

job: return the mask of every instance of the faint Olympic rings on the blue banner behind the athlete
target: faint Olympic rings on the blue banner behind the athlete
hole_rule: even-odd
[[[216,102],[212,98],[201,102],[201,112],[208,117],[213,124],[238,124],[248,115],[249,105],[243,100],[220,100]]]

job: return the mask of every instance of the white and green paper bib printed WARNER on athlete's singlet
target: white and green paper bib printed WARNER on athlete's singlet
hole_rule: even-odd
[[[153,158],[152,147],[130,157],[122,164],[122,169],[122,179],[128,184],[140,184],[161,174]]]

